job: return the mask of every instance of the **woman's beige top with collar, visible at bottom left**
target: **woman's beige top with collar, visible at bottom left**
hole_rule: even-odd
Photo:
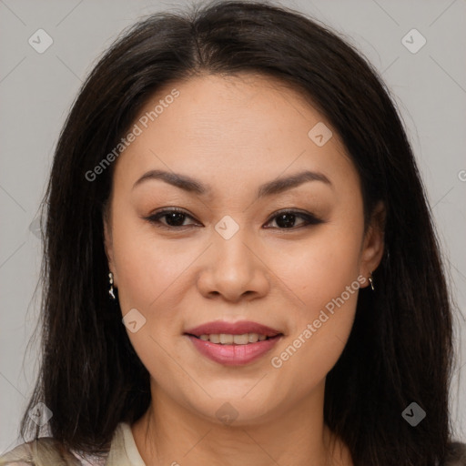
[[[65,460],[65,461],[64,461]],[[126,422],[117,425],[107,458],[81,456],[73,451],[73,456],[64,458],[56,451],[54,441],[50,437],[39,441],[22,443],[12,451],[0,456],[0,466],[51,466],[52,464],[73,466],[146,466],[137,451],[131,427]]]

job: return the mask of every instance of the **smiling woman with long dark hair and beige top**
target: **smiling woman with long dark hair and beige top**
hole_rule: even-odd
[[[0,464],[466,464],[418,169],[327,27],[251,2],[138,23],[45,206],[36,440]]]

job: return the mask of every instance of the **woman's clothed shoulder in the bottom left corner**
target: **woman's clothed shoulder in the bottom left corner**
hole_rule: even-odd
[[[0,456],[0,466],[103,466],[105,458],[68,451],[52,437],[40,437],[16,446]]]

